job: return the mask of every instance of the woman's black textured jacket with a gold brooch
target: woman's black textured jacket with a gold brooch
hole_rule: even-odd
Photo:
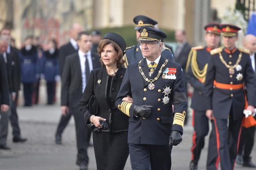
[[[108,129],[101,129],[101,132],[127,132],[128,131],[128,116],[123,114],[115,106],[115,99],[119,92],[122,80],[125,75],[125,68],[120,67],[116,75],[112,78],[110,84],[109,99],[107,97],[107,85],[109,75],[106,72],[106,67],[95,69],[91,71],[88,83],[83,92],[83,97],[79,101],[80,110],[85,114],[86,124],[89,124],[89,118],[92,114],[87,109],[87,104],[92,95],[94,95],[98,102],[97,116],[106,118],[109,123]]]

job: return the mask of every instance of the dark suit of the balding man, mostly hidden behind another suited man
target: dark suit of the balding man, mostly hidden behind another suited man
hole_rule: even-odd
[[[74,54],[75,52],[77,52],[77,50],[75,50],[75,48],[72,46],[72,44],[69,42],[67,44],[64,44],[63,46],[61,46],[61,48],[59,49],[59,74],[62,76],[62,72],[63,72],[63,67],[64,67],[64,63],[66,60],[66,57],[68,55]],[[68,122],[70,121],[71,118],[71,114],[70,115],[61,115],[61,119],[58,123],[57,126],[57,130],[56,130],[56,135],[61,135],[62,132],[64,131],[65,127],[67,126]]]

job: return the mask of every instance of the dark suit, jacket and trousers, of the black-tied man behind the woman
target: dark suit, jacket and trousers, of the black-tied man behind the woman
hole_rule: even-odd
[[[92,54],[93,68],[99,68],[99,57]],[[79,111],[78,102],[82,98],[82,74],[78,52],[69,55],[64,64],[61,84],[61,106],[69,107],[69,115],[75,119],[76,141],[77,141],[77,164],[86,161],[87,147],[89,142],[90,131],[84,124],[83,115]],[[89,134],[88,134],[89,133]]]

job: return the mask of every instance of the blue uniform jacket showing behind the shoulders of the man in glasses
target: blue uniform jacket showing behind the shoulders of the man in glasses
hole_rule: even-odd
[[[173,53],[167,47],[165,47],[164,51],[161,52],[161,56],[163,56],[163,58],[167,58],[168,60],[174,62]],[[125,67],[127,67],[128,64],[137,63],[139,62],[139,60],[142,60],[143,56],[139,48],[139,44],[136,44],[131,47],[127,47],[124,55],[124,59],[125,59]]]

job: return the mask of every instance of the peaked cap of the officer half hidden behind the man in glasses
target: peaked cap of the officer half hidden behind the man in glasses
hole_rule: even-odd
[[[137,15],[134,17],[134,23],[136,24],[134,27],[135,30],[139,30],[139,27],[147,26],[147,27],[154,27],[158,24],[157,21],[151,19],[145,15]]]

